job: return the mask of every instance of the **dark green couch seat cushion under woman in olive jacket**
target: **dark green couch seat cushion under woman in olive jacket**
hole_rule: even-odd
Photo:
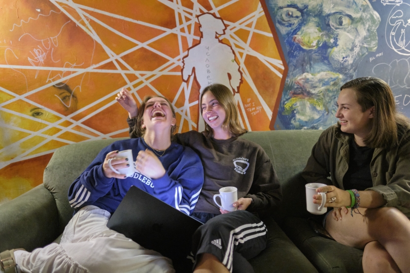
[[[287,217],[283,230],[319,272],[363,272],[362,250],[317,235],[307,219]]]

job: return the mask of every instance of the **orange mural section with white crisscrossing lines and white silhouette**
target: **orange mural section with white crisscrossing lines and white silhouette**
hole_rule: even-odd
[[[259,0],[0,0],[0,204],[42,182],[53,151],[128,136],[122,88],[171,99],[179,132],[198,98],[231,87],[248,130],[273,128],[286,72]],[[276,39],[276,41],[275,41]]]

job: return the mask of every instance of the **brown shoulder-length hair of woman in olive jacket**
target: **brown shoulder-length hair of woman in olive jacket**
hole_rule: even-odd
[[[375,107],[372,129],[363,139],[371,148],[388,148],[398,144],[398,127],[409,128],[409,120],[397,113],[396,102],[389,85],[378,78],[363,77],[345,83],[340,90],[355,91],[356,100],[365,112]],[[340,124],[339,124],[340,128]]]

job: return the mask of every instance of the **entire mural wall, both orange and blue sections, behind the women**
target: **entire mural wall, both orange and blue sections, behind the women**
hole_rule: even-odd
[[[122,88],[171,99],[202,130],[205,86],[243,127],[335,123],[346,81],[382,78],[410,117],[410,0],[0,0],[0,204],[42,182],[53,151],[128,136]],[[408,37],[406,39],[406,36]]]

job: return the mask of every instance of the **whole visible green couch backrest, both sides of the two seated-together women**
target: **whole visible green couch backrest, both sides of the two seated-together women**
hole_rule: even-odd
[[[279,222],[286,215],[310,215],[306,212],[305,181],[300,173],[321,132],[322,130],[275,130],[248,132],[241,136],[259,144],[272,160],[283,192],[281,206],[273,212]],[[68,204],[68,187],[102,148],[117,140],[120,139],[85,141],[61,147],[54,152],[44,170],[44,186],[56,200],[61,232],[73,213]]]

